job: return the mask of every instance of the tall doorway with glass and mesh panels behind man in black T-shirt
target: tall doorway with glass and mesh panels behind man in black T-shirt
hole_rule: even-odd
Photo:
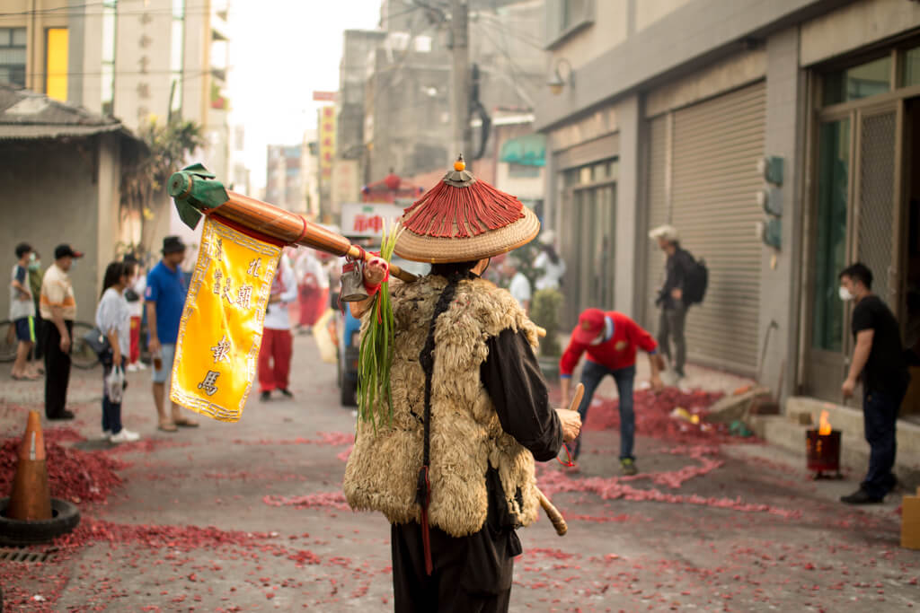
[[[837,275],[862,262],[873,291],[896,315],[903,302],[901,267],[903,100],[827,113],[817,130],[812,215],[809,358],[804,392],[841,403],[840,385],[853,352],[853,305],[837,295]],[[902,320],[903,321],[903,320]]]

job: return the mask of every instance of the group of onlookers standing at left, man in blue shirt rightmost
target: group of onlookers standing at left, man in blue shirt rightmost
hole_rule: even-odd
[[[198,426],[181,414],[177,405],[171,404],[167,410],[167,381],[188,289],[180,269],[186,250],[177,236],[168,236],[162,259],[151,270],[144,270],[135,255],[126,255],[106,267],[96,305],[96,327],[85,340],[102,363],[101,430],[102,437],[113,443],[140,438],[121,424],[121,399],[127,385],[124,373],[147,368],[141,361],[144,319],[154,367],[158,428],[176,432],[179,427]],[[16,256],[10,282],[10,319],[18,341],[12,377],[44,377],[45,416],[52,421],[71,420],[75,414],[68,409],[67,388],[77,303],[69,273],[75,259],[83,254],[69,244],[60,244],[54,249],[54,262],[44,270],[40,255],[29,244],[18,244]]]

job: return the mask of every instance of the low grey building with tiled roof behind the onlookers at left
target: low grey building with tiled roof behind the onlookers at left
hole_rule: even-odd
[[[106,266],[119,255],[122,165],[145,151],[116,119],[0,85],[0,265],[13,267],[21,242],[38,250],[43,267],[57,244],[72,244],[86,254],[71,273],[77,315],[92,321]],[[9,294],[0,293],[6,313]]]

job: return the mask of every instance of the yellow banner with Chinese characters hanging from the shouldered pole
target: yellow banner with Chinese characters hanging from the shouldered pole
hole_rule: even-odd
[[[174,402],[236,422],[252,388],[281,247],[204,220],[173,361]]]

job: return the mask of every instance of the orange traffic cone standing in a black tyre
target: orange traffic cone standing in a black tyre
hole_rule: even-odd
[[[45,463],[45,438],[41,435],[38,411],[29,411],[26,435],[19,445],[16,477],[9,496],[6,517],[20,521],[52,518],[52,494]]]

